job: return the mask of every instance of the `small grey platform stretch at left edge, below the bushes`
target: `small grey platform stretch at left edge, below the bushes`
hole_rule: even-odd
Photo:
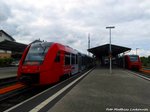
[[[2,67],[0,68],[0,79],[17,76],[17,67]]]

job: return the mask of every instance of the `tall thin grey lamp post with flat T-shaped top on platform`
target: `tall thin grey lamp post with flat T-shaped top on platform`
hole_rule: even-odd
[[[112,73],[112,50],[111,50],[111,29],[115,28],[114,26],[108,26],[106,27],[106,29],[109,29],[109,63],[110,63],[110,66],[109,66],[109,72],[110,74]]]

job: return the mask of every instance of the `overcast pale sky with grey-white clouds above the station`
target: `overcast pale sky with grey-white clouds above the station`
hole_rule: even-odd
[[[150,0],[0,0],[0,29],[17,42],[58,42],[87,53],[109,43],[150,55]]]

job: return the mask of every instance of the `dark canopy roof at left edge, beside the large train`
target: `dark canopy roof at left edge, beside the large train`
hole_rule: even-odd
[[[27,47],[26,44],[4,40],[0,42],[1,50],[15,51],[15,52],[23,52]]]

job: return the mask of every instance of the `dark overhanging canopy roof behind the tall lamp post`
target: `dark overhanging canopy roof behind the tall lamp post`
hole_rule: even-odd
[[[88,51],[97,57],[108,56],[109,55],[109,45],[110,44],[105,44],[102,46],[90,48],[90,49],[88,49]],[[131,50],[131,48],[118,46],[118,45],[111,45],[111,49],[112,49],[112,56],[117,56],[120,53],[124,53],[126,51]]]

